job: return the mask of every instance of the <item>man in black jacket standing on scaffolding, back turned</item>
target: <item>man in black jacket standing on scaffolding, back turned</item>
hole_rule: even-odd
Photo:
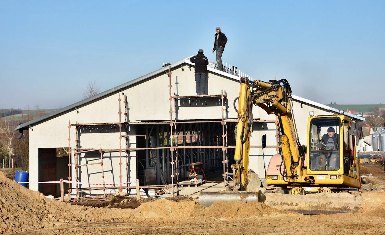
[[[198,55],[190,58],[192,63],[195,63],[195,89],[197,95],[206,95],[205,86],[207,83],[206,72],[209,60],[203,54],[203,49],[199,49]]]

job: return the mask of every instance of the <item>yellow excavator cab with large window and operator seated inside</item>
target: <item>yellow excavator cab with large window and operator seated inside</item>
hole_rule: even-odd
[[[345,115],[309,117],[306,176],[314,184],[360,188],[355,127]]]

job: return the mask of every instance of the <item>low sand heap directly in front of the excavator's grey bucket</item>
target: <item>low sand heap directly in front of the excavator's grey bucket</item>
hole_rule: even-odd
[[[209,207],[201,205],[193,210],[194,216],[214,217],[214,218],[250,218],[277,213],[286,213],[278,209],[269,207],[261,202],[216,202]]]

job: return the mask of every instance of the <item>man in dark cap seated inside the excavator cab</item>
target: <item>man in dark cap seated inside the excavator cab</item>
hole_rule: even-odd
[[[328,133],[322,136],[322,139],[318,144],[318,150],[338,150],[338,140],[339,140],[338,134],[335,133],[334,128],[329,127]],[[340,164],[338,164],[337,155],[338,155],[338,152],[321,153],[320,155],[321,169],[337,170],[338,168],[340,168]]]

